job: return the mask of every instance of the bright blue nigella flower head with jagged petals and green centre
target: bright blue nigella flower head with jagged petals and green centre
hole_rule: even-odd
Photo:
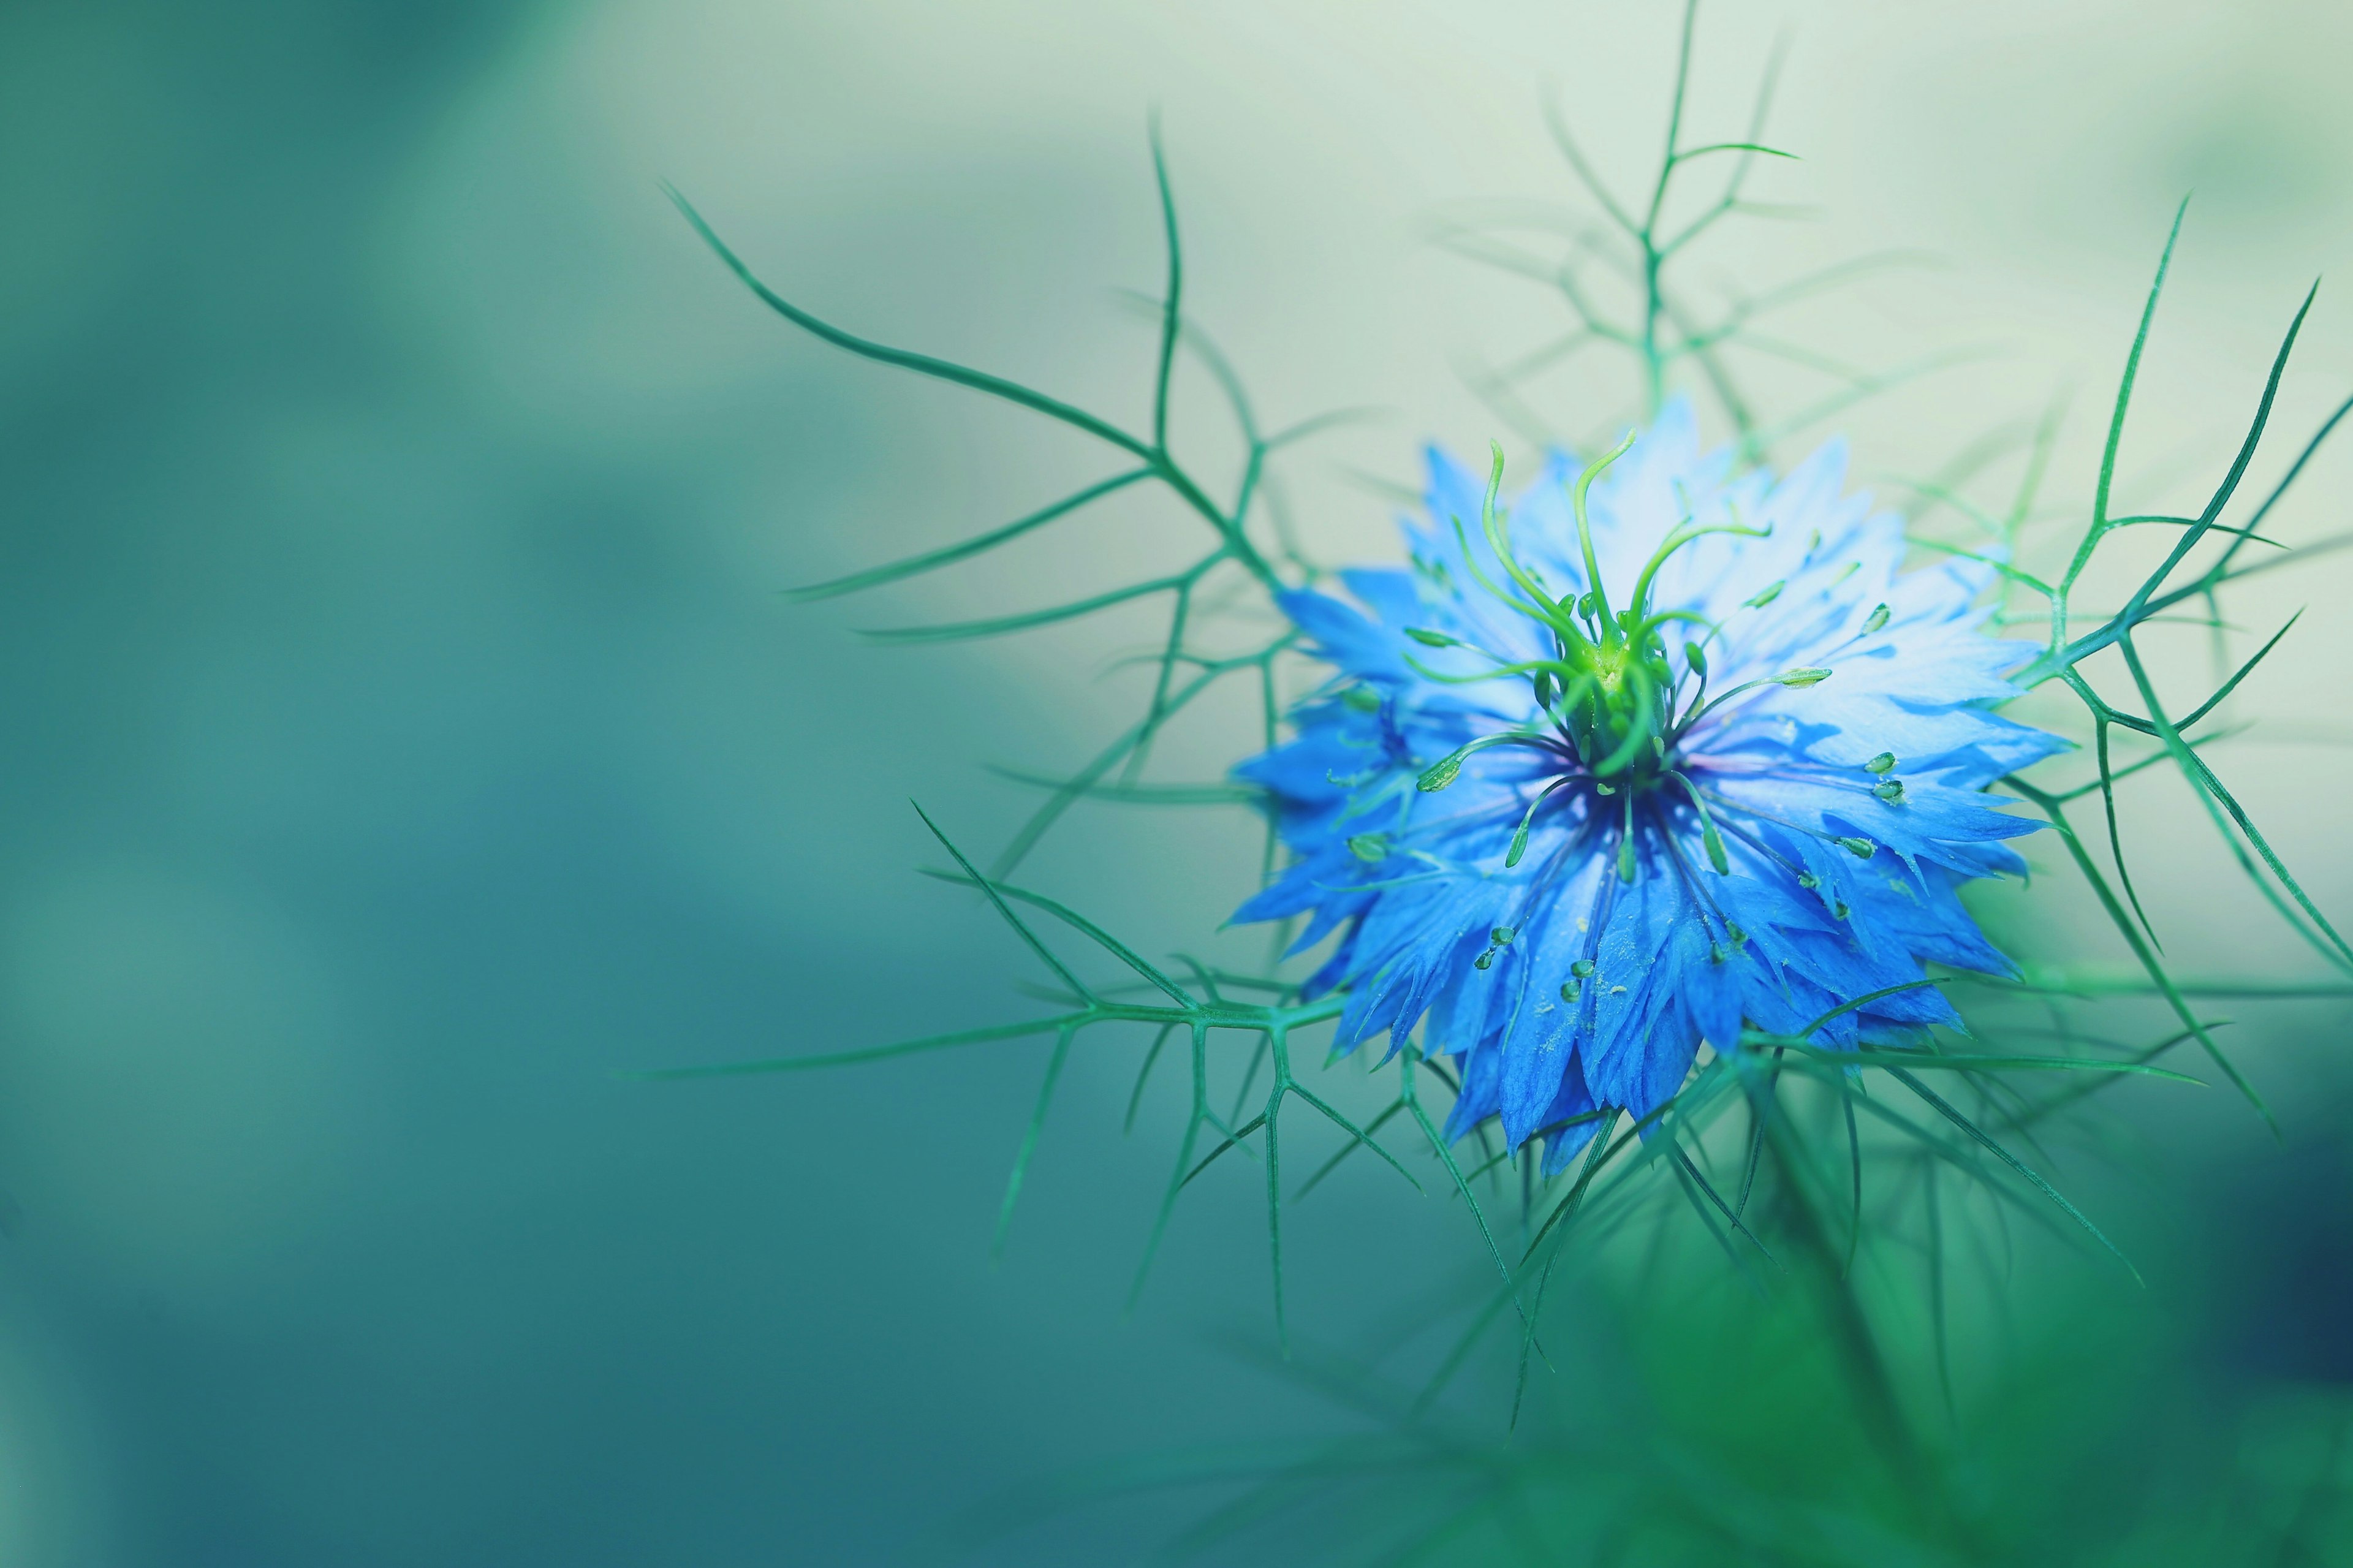
[[[1922,963],[2014,972],[1958,888],[2038,826],[1984,791],[2064,746],[1986,706],[2031,655],[1981,631],[1988,570],[1901,570],[1835,445],[1739,473],[1680,405],[1628,440],[1508,511],[1501,452],[1485,497],[1433,452],[1409,572],[1344,572],[1365,612],[1282,596],[1339,673],[1238,770],[1294,859],[1235,918],[1339,932],[1311,982],[1346,991],[1339,1045],[1426,1019],[1449,1135],[1501,1114],[1548,1170],[1744,1022],[1958,1024]]]

